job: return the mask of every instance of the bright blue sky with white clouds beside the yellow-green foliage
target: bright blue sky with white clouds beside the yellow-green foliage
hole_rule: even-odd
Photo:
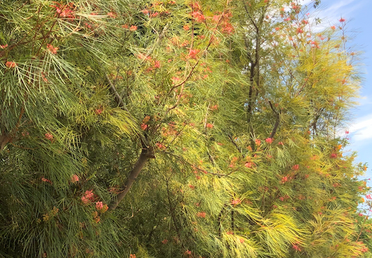
[[[302,0],[302,4],[311,0]],[[323,24],[329,26],[340,24],[343,17],[347,22],[348,34],[355,36],[349,45],[354,46],[356,52],[362,52],[364,81],[357,100],[359,106],[351,110],[352,120],[349,122],[350,146],[345,149],[357,151],[357,162],[368,162],[369,169],[366,178],[372,178],[372,0],[322,0],[313,15],[320,17]]]

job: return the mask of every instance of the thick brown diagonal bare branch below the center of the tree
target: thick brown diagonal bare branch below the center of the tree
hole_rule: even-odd
[[[128,179],[126,179],[124,185],[121,187],[121,192],[111,202],[111,204],[108,208],[109,211],[112,211],[115,208],[117,208],[119,203],[124,199],[126,194],[129,192],[129,190],[131,190],[131,187],[132,187],[135,179],[137,179],[137,176],[140,174],[140,172],[142,171],[142,168],[146,164],[147,160],[149,160],[149,158],[155,158],[152,151],[148,148],[142,149],[140,157],[138,157],[137,162],[135,162],[135,165],[133,166],[133,169],[131,170],[131,172],[128,175]]]

